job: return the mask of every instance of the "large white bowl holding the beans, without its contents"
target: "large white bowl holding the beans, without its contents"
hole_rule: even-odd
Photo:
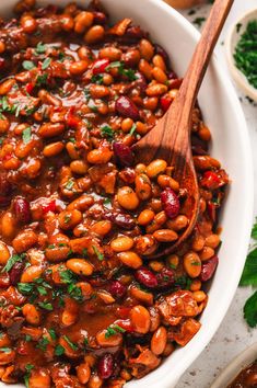
[[[52,1],[52,0],[51,0]],[[1,0],[0,15],[10,13],[16,0]],[[40,0],[39,4],[50,0]],[[67,4],[70,0],[55,0]],[[78,0],[78,3],[87,3]],[[178,12],[160,0],[103,0],[113,19],[132,18],[163,45],[179,76],[185,73],[199,39],[197,30]],[[225,71],[213,58],[199,93],[206,123],[212,130],[211,155],[229,171],[232,185],[221,216],[223,244],[220,265],[209,293],[209,303],[201,317],[202,328],[184,347],[178,349],[154,372],[128,384],[128,388],[172,388],[197,358],[219,328],[235,294],[247,252],[253,219],[253,168],[245,118]],[[0,387],[5,387],[0,385]],[[9,385],[10,387],[10,385]],[[16,387],[16,386],[13,386]]]

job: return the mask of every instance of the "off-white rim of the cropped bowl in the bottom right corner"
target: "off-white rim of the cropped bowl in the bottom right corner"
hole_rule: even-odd
[[[236,376],[257,360],[257,342],[235,357],[210,388],[226,388]]]

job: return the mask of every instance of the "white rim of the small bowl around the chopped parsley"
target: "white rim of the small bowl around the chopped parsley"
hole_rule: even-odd
[[[257,89],[255,89],[248,82],[245,75],[240,69],[237,69],[237,67],[235,66],[234,57],[233,57],[233,55],[235,53],[235,47],[236,47],[242,34],[245,32],[248,22],[252,20],[257,20],[257,9],[254,9],[254,10],[245,13],[232,26],[232,28],[229,32],[229,35],[225,39],[225,52],[226,52],[227,65],[229,65],[230,71],[231,71],[235,82],[237,83],[237,85],[242,89],[242,91],[246,95],[248,95],[254,101],[257,101]],[[237,28],[238,25],[241,25],[240,28]]]

